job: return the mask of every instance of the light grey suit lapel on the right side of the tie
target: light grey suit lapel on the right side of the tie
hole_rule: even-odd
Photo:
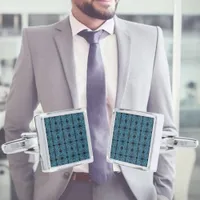
[[[115,33],[118,47],[118,84],[115,107],[121,108],[130,68],[131,37],[127,33],[124,22],[117,17],[115,17]]]

